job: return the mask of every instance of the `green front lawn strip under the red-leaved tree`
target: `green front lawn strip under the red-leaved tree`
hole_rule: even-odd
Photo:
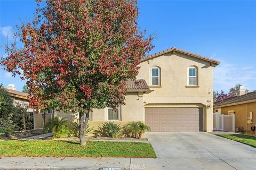
[[[150,143],[0,140],[0,157],[146,157],[155,158]]]

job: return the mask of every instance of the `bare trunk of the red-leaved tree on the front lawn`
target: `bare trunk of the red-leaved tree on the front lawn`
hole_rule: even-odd
[[[86,140],[85,140],[85,135],[86,135],[86,126],[89,121],[89,111],[87,113],[79,113],[79,124],[80,124],[80,129],[79,129],[79,140],[80,140],[80,145],[86,145]]]

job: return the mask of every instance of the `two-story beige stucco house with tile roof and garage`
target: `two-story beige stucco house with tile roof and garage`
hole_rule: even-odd
[[[213,68],[219,63],[175,47],[147,56],[137,83],[127,82],[126,105],[95,109],[89,124],[97,128],[105,121],[142,121],[152,131],[212,132]],[[76,113],[55,115],[78,118]]]

